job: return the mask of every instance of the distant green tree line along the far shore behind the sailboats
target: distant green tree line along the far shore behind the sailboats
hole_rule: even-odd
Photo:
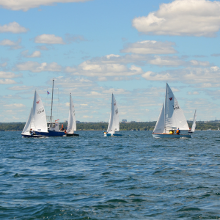
[[[67,123],[60,123],[63,124],[64,128],[67,127]],[[131,122],[131,123],[120,123],[120,130],[124,131],[153,131],[156,121],[153,122]],[[192,126],[192,122],[188,122],[189,127]],[[24,128],[25,122],[11,122],[11,123],[0,123],[0,131],[22,131]],[[196,123],[197,130],[218,130],[220,127],[219,122],[210,121],[210,122],[202,122],[198,121]],[[107,122],[81,122],[77,123],[77,130],[84,130],[84,131],[106,131],[108,128]]]

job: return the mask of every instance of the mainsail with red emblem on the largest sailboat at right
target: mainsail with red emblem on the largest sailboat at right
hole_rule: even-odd
[[[169,85],[166,84],[165,97],[165,133],[177,129],[189,130],[188,123]]]

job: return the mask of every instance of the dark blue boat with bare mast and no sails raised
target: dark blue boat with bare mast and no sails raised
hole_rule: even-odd
[[[37,135],[42,136],[64,136],[65,132],[59,130],[59,122],[58,120],[55,120],[53,122],[53,91],[54,91],[54,80],[53,80],[53,86],[52,86],[52,99],[51,99],[51,114],[50,114],[50,121],[47,124],[47,131],[35,131]]]

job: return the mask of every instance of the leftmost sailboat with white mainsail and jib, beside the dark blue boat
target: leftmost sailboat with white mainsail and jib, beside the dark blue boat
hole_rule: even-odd
[[[34,93],[33,106],[21,133],[23,137],[40,137],[36,131],[47,132],[47,120],[43,102],[37,91]]]

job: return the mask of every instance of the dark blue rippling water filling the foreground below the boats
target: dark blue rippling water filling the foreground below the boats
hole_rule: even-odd
[[[0,219],[219,219],[220,132],[0,132]]]

